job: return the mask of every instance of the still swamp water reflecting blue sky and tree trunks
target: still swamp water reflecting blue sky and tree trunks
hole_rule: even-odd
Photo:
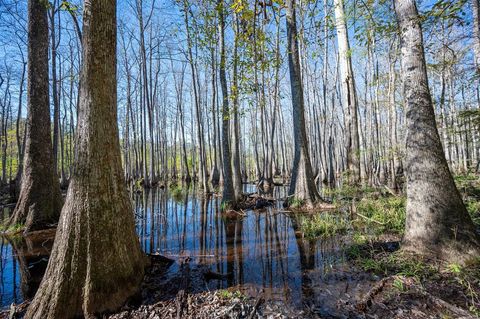
[[[245,185],[244,191],[254,187]],[[285,196],[286,188],[274,189],[274,198]],[[174,260],[152,283],[152,302],[173,298],[185,286],[191,293],[230,288],[335,316],[341,313],[339,301],[352,300],[378,280],[350,269],[348,236],[307,239],[300,217],[285,212],[280,201],[225,218],[221,198],[196,196],[192,188],[152,189],[132,198],[143,250]],[[53,236],[0,237],[2,309],[34,295]]]

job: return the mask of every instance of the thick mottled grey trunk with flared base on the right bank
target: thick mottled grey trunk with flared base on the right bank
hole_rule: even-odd
[[[422,29],[414,0],[395,0],[406,100],[407,221],[404,248],[464,261],[480,253],[480,239],[462,202],[435,122]]]

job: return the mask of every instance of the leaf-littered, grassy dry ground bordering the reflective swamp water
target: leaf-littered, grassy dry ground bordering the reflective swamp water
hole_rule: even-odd
[[[456,182],[480,229],[479,178],[462,176]],[[264,289],[208,290],[207,281],[226,280],[228,274],[213,273],[189,257],[174,261],[150,255],[152,264],[138,296],[102,318],[480,318],[480,259],[446,264],[403,252],[403,197],[382,189],[346,188],[324,196],[348,209],[340,209],[334,218],[309,213],[300,219],[301,236],[349,237],[345,267],[329,274],[335,278],[335,291],[313,287],[323,291],[312,293],[317,296],[298,307],[272,298]],[[173,263],[180,271],[165,280]],[[12,306],[0,318],[21,318],[28,303]]]

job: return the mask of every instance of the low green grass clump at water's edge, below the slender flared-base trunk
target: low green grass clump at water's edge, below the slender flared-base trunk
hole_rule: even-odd
[[[300,215],[300,228],[304,236],[310,239],[327,238],[345,233],[350,228],[347,218],[341,214],[319,213],[316,215]]]

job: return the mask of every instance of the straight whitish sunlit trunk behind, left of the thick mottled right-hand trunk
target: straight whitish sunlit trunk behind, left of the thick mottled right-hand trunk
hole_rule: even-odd
[[[340,82],[343,106],[346,109],[347,166],[350,182],[360,183],[360,137],[358,135],[358,102],[353,77],[352,58],[346,25],[343,0],[335,0],[335,25],[337,29],[338,54],[340,57]]]

